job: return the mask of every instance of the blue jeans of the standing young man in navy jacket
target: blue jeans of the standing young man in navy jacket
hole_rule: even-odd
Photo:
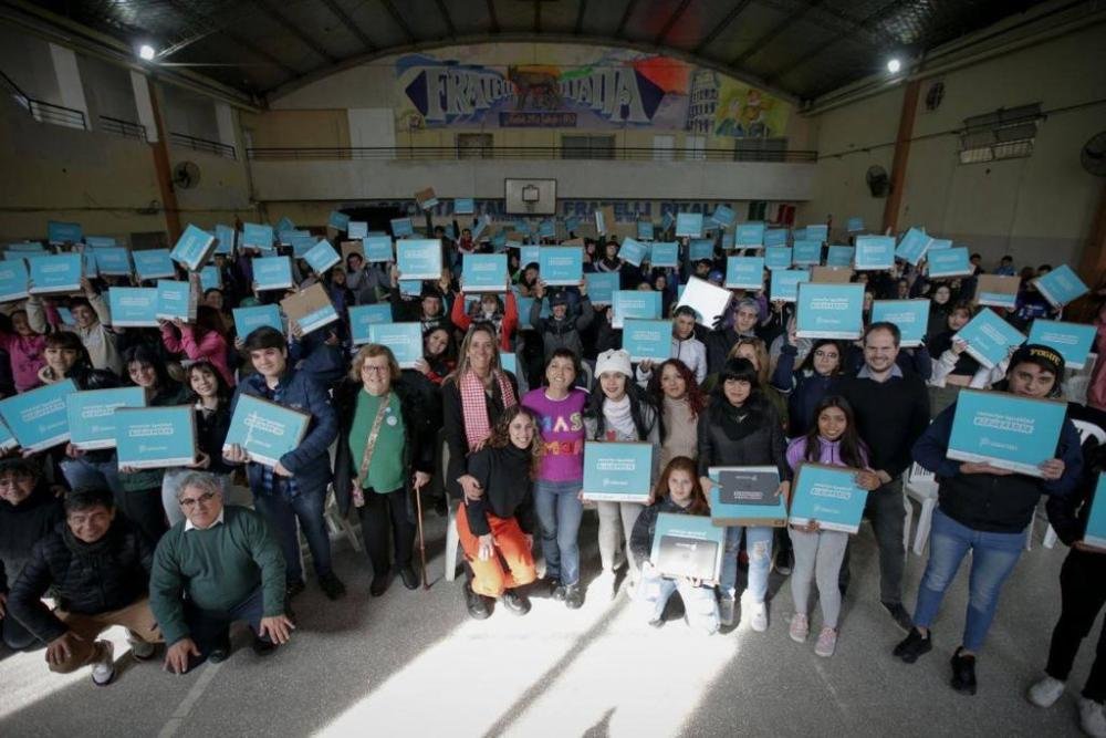
[[[303,537],[307,539],[315,573],[319,576],[331,573],[331,537],[323,519],[325,503],[325,489],[307,491],[301,488],[300,493],[291,499],[281,492],[260,492],[253,496],[253,507],[265,517],[280,541],[284,553],[285,578],[290,584],[303,579],[296,520],[300,521]]]

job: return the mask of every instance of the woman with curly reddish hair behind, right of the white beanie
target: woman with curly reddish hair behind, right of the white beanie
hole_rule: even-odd
[[[699,416],[707,407],[707,397],[691,370],[678,358],[665,360],[653,368],[646,392],[660,408],[657,467],[665,468],[677,456],[695,459],[699,455]]]

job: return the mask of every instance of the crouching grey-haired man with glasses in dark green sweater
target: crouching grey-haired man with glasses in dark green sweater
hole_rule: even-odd
[[[295,626],[284,609],[284,558],[264,519],[225,507],[207,472],[185,477],[177,502],[185,520],[158,542],[149,581],[166,668],[184,674],[205,658],[226,659],[234,621],[250,624],[259,654],[285,643]]]

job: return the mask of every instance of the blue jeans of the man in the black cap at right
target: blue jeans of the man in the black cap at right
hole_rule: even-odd
[[[987,533],[972,530],[941,512],[940,508],[935,510],[933,527],[929,533],[929,561],[918,588],[914,624],[928,628],[933,622],[945,591],[956,578],[960,562],[971,551],[963,647],[978,652],[994,620],[1002,584],[1014,570],[1024,545],[1024,532]]]

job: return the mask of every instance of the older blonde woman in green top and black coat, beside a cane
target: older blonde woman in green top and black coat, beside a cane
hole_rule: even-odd
[[[338,445],[334,498],[344,517],[349,506],[361,518],[365,551],[373,564],[369,593],[384,594],[398,571],[408,590],[418,589],[411,567],[415,516],[411,491],[430,481],[434,448],[419,393],[401,381],[392,350],[361,347],[349,378],[334,392]],[[375,432],[375,433],[374,433]],[[410,471],[414,470],[414,474]],[[388,562],[388,530],[395,561]]]

